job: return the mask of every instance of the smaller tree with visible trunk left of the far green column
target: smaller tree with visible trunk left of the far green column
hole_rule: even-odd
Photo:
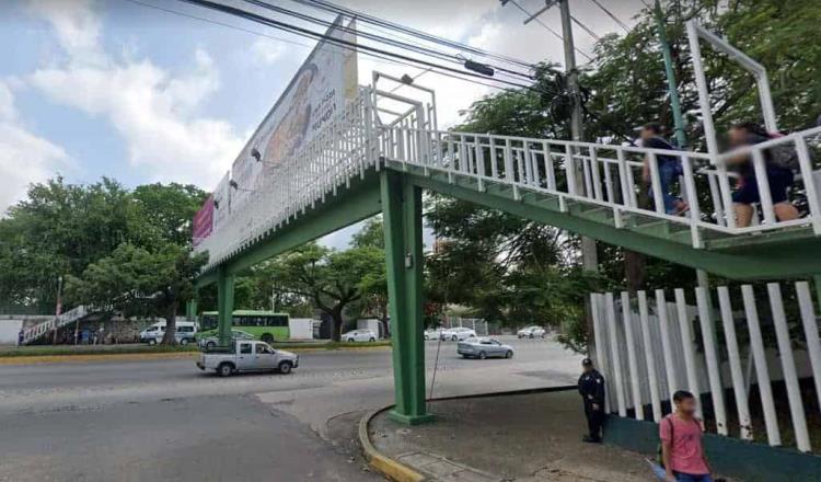
[[[176,313],[194,297],[194,282],[208,261],[187,246],[166,242],[153,251],[123,243],[92,263],[81,276],[69,276],[66,296],[77,302],[165,318],[162,343],[176,344]]]

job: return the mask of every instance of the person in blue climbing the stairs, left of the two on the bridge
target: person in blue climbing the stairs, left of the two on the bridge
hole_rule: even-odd
[[[677,150],[669,140],[662,137],[663,128],[659,123],[645,124],[640,129],[641,147],[648,149]],[[659,172],[659,184],[661,185],[661,197],[664,202],[664,213],[672,216],[680,216],[690,209],[690,206],[680,197],[673,196],[673,182],[682,174],[681,159],[677,156],[657,154],[656,162]],[[652,177],[650,171],[650,156],[645,157],[645,165],[641,170],[641,177],[649,185],[647,195],[652,198]]]

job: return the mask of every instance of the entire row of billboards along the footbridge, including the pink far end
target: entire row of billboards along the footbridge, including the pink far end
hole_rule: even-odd
[[[355,43],[355,22],[343,27],[338,16],[325,33],[326,37]],[[250,236],[276,206],[257,206],[259,193],[277,187],[278,167],[293,158],[303,146],[322,131],[345,103],[358,93],[357,56],[350,48],[326,39],[316,44],[305,61],[286,87],[274,107],[231,165],[231,171],[213,191],[212,229],[210,237],[219,239],[210,244],[228,245]],[[197,216],[200,216],[198,213]],[[207,216],[201,213],[201,216]],[[255,219],[259,218],[259,219]],[[230,225],[230,227],[229,227]],[[221,232],[229,229],[230,233]],[[211,253],[219,257],[219,253]]]

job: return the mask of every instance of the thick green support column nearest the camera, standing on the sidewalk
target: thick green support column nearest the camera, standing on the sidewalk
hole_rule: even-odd
[[[396,400],[390,417],[416,425],[432,420],[425,406],[421,188],[391,171],[380,182]]]

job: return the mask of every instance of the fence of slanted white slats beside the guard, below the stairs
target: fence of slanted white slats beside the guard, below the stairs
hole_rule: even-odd
[[[628,416],[629,410],[638,420],[658,422],[664,415],[662,409],[669,406],[663,402],[677,390],[689,390],[709,395],[710,422],[719,435],[752,439],[755,424],[749,393],[754,372],[770,445],[782,445],[772,382],[784,381],[796,446],[810,451],[799,379],[814,380],[821,405],[821,344],[809,284],[771,283],[766,296],[763,287],[743,285],[737,306],[731,301],[736,291],[726,286],[694,291],[695,306],[687,305],[684,289],[675,289],[672,299],[663,289],[652,296],[638,291],[635,297],[626,291],[591,294],[594,357],[608,383],[608,412]],[[795,294],[800,320],[788,319],[785,294]],[[793,343],[790,325],[802,329],[800,344]],[[765,335],[772,333],[776,346],[765,343]],[[749,343],[739,344],[739,340]],[[731,423],[725,401],[729,389],[737,412]]]

